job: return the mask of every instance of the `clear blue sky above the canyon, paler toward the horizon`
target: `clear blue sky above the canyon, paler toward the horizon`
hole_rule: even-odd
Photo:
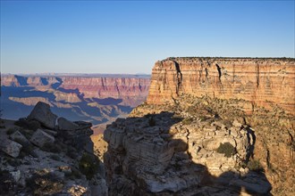
[[[170,56],[292,57],[294,1],[1,1],[3,73],[150,73]]]

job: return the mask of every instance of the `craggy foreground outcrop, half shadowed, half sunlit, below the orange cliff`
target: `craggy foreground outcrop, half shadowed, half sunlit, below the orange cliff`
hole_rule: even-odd
[[[249,192],[270,191],[264,176],[257,175],[257,183],[264,186],[259,190],[244,182],[250,175],[241,165],[253,153],[255,137],[246,125],[232,122],[225,126],[221,119],[197,116],[189,123],[167,111],[131,116],[117,119],[105,130],[108,151],[104,162],[110,195],[186,195],[199,193],[197,187],[208,182],[235,189],[239,185],[233,182],[237,180]],[[231,143],[236,151],[225,157],[217,152],[221,143]],[[218,189],[221,192],[223,188]]]

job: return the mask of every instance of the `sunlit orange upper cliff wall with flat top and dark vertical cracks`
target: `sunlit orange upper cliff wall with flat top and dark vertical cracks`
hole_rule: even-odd
[[[147,103],[173,102],[180,94],[243,99],[266,108],[268,102],[274,102],[295,113],[295,99],[291,98],[295,94],[295,60],[169,58],[157,61]]]

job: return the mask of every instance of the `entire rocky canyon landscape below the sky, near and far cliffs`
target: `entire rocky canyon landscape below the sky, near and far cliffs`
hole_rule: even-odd
[[[6,101],[35,106],[26,118],[1,121],[6,193],[294,195],[295,59],[173,57],[156,61],[151,80],[71,77],[2,81]],[[89,122],[54,112],[82,100],[107,116],[132,108],[135,92],[147,102],[113,115],[103,138],[92,138],[98,154]]]

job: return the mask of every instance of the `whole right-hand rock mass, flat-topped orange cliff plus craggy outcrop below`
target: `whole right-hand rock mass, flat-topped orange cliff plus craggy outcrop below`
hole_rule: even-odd
[[[106,127],[110,195],[292,195],[295,60],[169,58]]]

